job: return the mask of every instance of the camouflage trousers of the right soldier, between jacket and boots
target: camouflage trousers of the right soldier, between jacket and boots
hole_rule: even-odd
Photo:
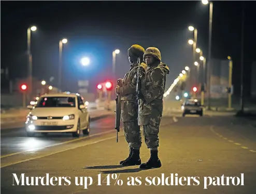
[[[149,149],[157,149],[159,147],[159,128],[159,123],[143,125],[143,135]]]

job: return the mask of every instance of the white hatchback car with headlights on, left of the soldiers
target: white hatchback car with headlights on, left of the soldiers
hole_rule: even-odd
[[[29,105],[27,136],[35,133],[72,133],[89,135],[90,115],[82,96],[73,93],[55,93],[40,96],[35,105]]]

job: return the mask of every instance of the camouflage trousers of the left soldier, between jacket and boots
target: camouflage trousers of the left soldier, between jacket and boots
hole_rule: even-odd
[[[123,132],[130,148],[139,149],[141,147],[141,133],[137,120],[123,122]]]

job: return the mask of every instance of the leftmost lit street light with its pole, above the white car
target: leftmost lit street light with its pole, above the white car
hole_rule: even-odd
[[[27,28],[27,56],[29,58],[29,86],[31,88],[31,93],[33,92],[33,87],[32,87],[32,54],[31,54],[31,31],[36,31],[36,26],[32,26]]]

